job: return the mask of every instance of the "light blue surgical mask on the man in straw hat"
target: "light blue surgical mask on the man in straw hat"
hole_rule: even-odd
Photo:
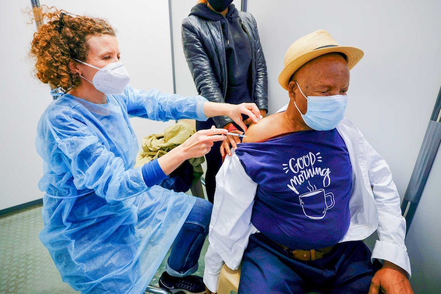
[[[296,102],[294,105],[300,112],[305,124],[318,131],[327,131],[335,128],[339,122],[344,118],[344,110],[347,104],[347,95],[334,96],[308,96],[306,97],[299,84],[300,93],[307,100],[306,114],[302,114]]]

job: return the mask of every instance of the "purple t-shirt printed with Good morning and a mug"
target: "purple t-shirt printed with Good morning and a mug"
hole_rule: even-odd
[[[352,167],[336,129],[241,143],[236,154],[258,184],[251,222],[293,249],[338,243],[349,228]]]

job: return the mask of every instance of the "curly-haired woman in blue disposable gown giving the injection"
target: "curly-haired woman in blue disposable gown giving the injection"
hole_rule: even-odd
[[[157,160],[134,168],[138,141],[130,117],[167,121],[242,115],[257,122],[255,104],[209,102],[128,85],[114,29],[104,19],[56,8],[34,9],[47,20],[34,34],[36,77],[60,87],[43,112],[36,148],[44,162],[41,242],[62,280],[81,293],[141,294],[174,246],[159,285],[205,293],[198,266],[209,201],[156,186],[185,160],[204,156],[225,129],[196,132]]]

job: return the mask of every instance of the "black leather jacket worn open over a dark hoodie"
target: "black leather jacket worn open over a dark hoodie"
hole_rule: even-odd
[[[251,41],[252,97],[259,109],[268,111],[267,65],[254,16],[239,11],[242,27]],[[220,21],[190,15],[182,22],[182,45],[197,92],[209,101],[224,103],[227,93],[227,61]],[[217,127],[232,122],[229,117],[214,117]]]

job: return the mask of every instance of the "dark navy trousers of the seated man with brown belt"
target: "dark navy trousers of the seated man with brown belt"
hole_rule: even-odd
[[[338,243],[314,261],[289,257],[282,247],[260,233],[250,236],[242,259],[238,294],[307,293],[366,294],[381,263],[370,262],[363,241]]]

